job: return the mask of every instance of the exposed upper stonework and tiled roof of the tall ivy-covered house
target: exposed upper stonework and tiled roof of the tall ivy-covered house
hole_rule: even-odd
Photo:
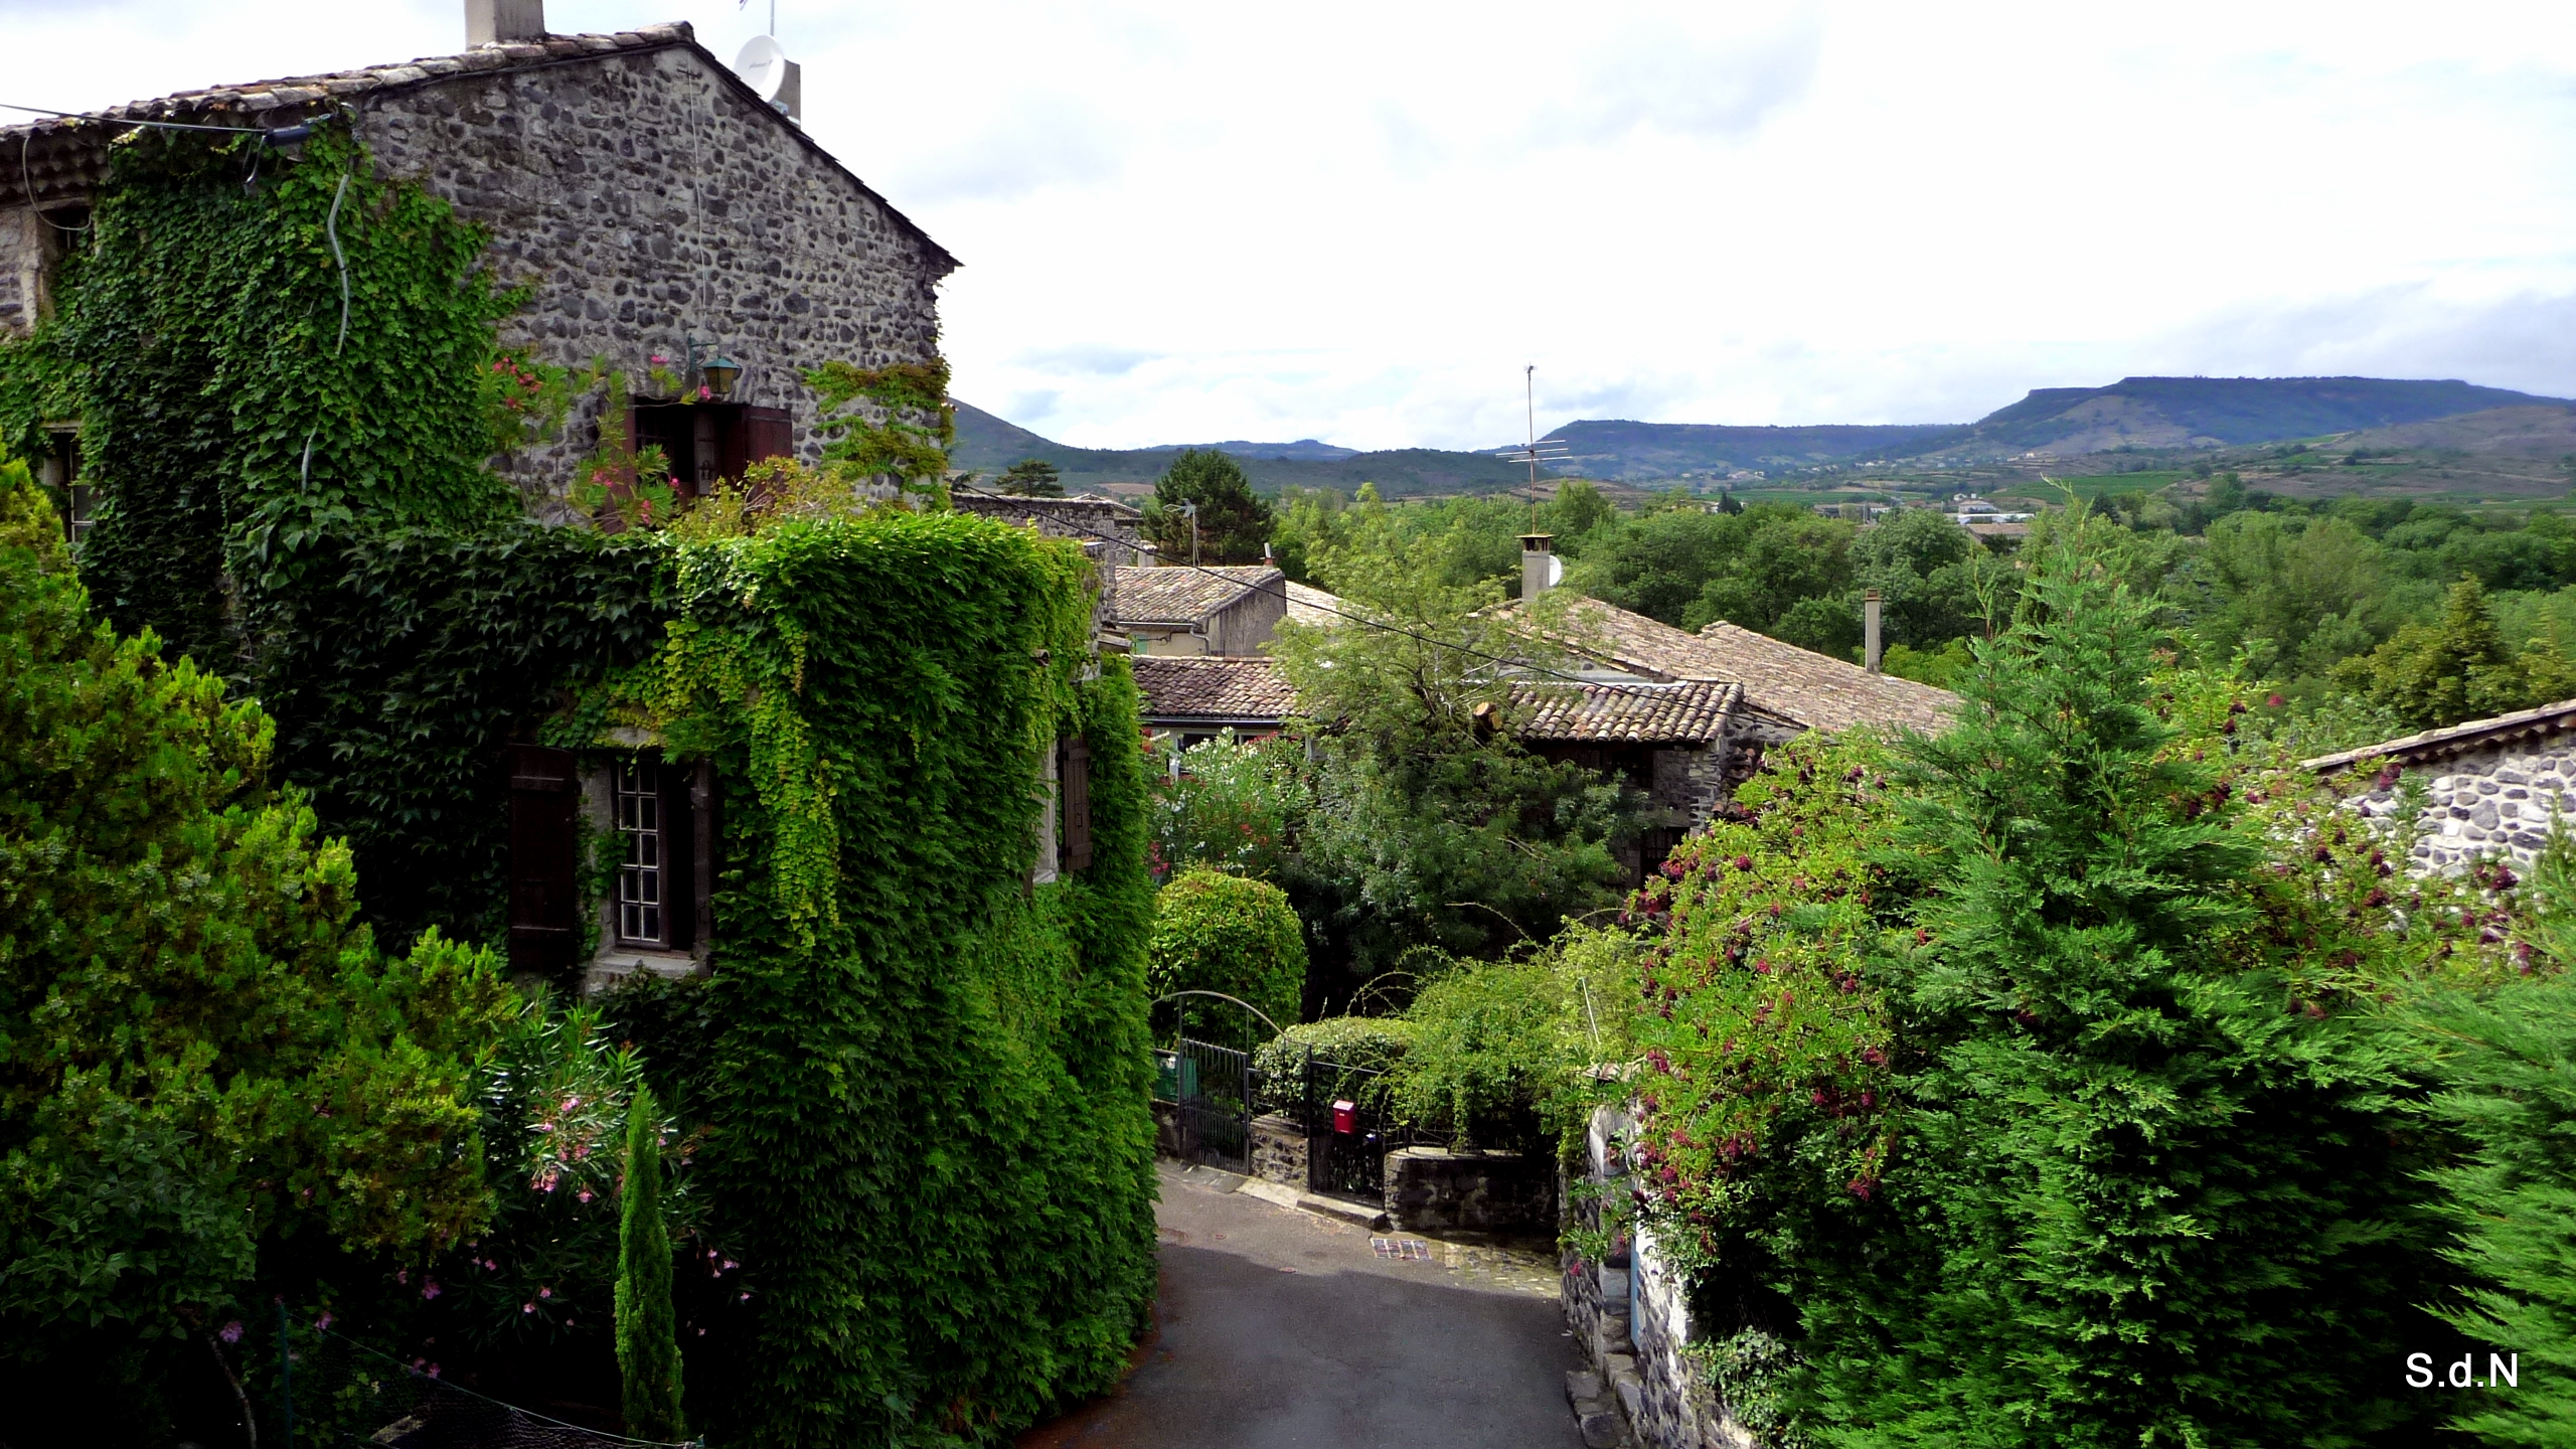
[[[819,456],[801,374],[827,361],[927,364],[956,258],[724,67],[685,23],[554,36],[538,0],[466,0],[466,49],[214,85],[0,131],[0,335],[54,304],[54,276],[131,121],[283,131],[348,121],[379,170],[489,229],[489,266],[528,284],[505,340],[541,361],[608,358],[634,389],[631,436],[662,443],[683,492],[752,459]],[[672,387],[649,382],[652,358]],[[703,369],[739,366],[734,379]],[[698,364],[698,366],[690,366]],[[729,387],[719,387],[726,384]],[[698,387],[708,394],[698,405]],[[598,400],[551,446],[502,467],[538,516],[598,443]],[[77,420],[57,428],[77,482]],[[85,508],[72,508],[75,513]]]

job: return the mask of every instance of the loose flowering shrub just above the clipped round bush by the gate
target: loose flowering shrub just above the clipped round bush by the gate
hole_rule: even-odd
[[[1146,859],[1154,877],[1208,866],[1278,882],[1288,871],[1296,822],[1311,797],[1298,743],[1273,735],[1236,740],[1231,732],[1190,745],[1177,758],[1180,776],[1154,784],[1154,835]]]

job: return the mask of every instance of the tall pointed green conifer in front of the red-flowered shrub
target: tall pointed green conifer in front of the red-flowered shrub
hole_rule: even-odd
[[[1911,753],[1940,861],[1888,1232],[1808,1302],[1839,1444],[2352,1444],[2421,1292],[2388,1036],[2231,957],[2259,841],[2081,518]]]

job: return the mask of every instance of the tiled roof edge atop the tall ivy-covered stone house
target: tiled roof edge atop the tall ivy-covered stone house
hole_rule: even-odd
[[[688,21],[672,21],[667,26],[639,26],[634,31],[616,31],[605,36],[546,36],[544,41],[474,46],[456,54],[420,57],[402,64],[337,70],[330,75],[209,85],[204,90],[178,90],[152,101],[103,106],[82,116],[49,116],[23,126],[5,126],[0,129],[0,144],[15,155],[18,165],[0,168],[0,173],[5,173],[0,175],[0,188],[5,188],[0,196],[26,201],[33,191],[33,199],[39,201],[85,199],[106,175],[106,144],[116,134],[124,134],[121,126],[100,126],[100,121],[185,121],[191,126],[273,129],[319,116],[335,103],[379,90],[404,90],[412,85],[435,85],[459,75],[538,70],[549,64],[572,64],[608,54],[657,52],[670,46],[688,46],[698,52],[708,70],[732,83],[750,106],[775,116],[768,101],[744,85],[732,67],[698,46],[698,34],[688,26]],[[801,126],[786,116],[778,116],[778,124],[786,126],[799,144],[840,168],[853,186],[868,191],[868,186],[858,180],[850,168],[840,165],[840,160]],[[868,196],[876,193],[868,191]],[[876,196],[876,201],[884,204],[884,196]],[[891,204],[886,211],[909,227],[912,235],[920,237],[940,260],[951,268],[956,266],[956,258],[933,242],[927,232],[914,227],[909,217],[894,211]]]

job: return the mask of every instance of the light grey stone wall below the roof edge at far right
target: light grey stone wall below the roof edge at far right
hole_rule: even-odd
[[[2483,745],[2439,761],[2383,771],[2349,807],[2372,820],[2403,812],[2409,784],[2421,781],[2411,866],[2450,871],[2478,859],[2530,866],[2558,815],[2576,815],[2576,735],[2553,732]]]

